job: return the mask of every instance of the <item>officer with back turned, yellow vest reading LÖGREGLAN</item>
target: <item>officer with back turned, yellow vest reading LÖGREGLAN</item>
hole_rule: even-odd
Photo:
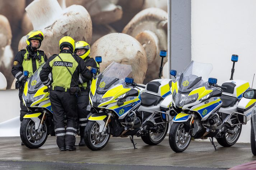
[[[54,54],[47,60],[39,76],[45,86],[51,84],[50,101],[54,112],[53,119],[59,150],[72,151],[76,149],[74,143],[78,127],[75,94],[79,92],[79,73],[86,79],[91,79],[93,74],[86,67],[82,58],[73,55],[75,41],[71,37],[61,38],[59,47],[60,54]],[[48,78],[49,73],[52,74],[52,81]],[[65,114],[66,129],[64,126]]]

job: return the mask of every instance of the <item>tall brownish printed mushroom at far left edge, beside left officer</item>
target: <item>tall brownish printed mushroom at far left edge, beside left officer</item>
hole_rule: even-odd
[[[0,72],[8,79],[8,84],[10,84],[14,79],[11,74],[13,62],[11,37],[12,34],[9,21],[4,15],[0,15]]]

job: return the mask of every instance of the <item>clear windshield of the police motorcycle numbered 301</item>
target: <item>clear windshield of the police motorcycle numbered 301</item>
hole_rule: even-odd
[[[198,63],[192,60],[176,78],[179,91],[186,93],[197,87],[208,87],[208,77],[212,70],[212,64]]]

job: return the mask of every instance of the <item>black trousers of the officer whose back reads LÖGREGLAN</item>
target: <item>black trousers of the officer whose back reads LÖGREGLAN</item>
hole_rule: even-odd
[[[50,91],[50,101],[57,145],[59,147],[74,146],[76,128],[78,126],[76,96],[69,92]],[[67,126],[65,128],[65,114]]]

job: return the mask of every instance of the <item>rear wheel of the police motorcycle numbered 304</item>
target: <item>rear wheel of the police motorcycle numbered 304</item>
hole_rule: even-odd
[[[143,142],[145,142],[145,144],[148,144],[148,145],[160,144],[166,136],[166,133],[169,128],[169,122],[166,122],[164,126],[165,126],[165,128],[164,128],[163,132],[154,133],[154,132],[148,130],[148,133],[145,136],[141,136],[141,139],[143,140]]]

